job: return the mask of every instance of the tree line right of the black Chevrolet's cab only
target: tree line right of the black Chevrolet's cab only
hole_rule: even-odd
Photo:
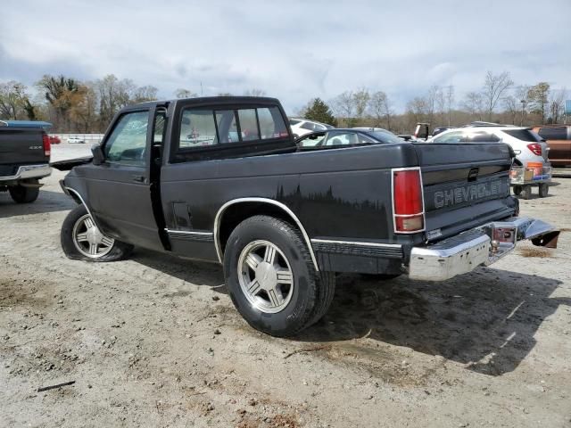
[[[342,127],[379,127],[410,133],[418,122],[460,126],[475,120],[531,126],[563,120],[567,89],[552,89],[547,82],[516,85],[509,72],[488,71],[482,86],[457,102],[454,86],[430,86],[396,113],[384,91],[367,87],[345,91],[327,103],[320,98],[298,111],[298,116]]]

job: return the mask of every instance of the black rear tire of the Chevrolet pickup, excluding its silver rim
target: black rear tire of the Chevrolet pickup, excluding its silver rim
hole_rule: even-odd
[[[238,262],[247,245],[265,241],[283,253],[293,273],[291,300],[285,308],[268,313],[248,300],[238,276]],[[310,251],[297,228],[279,218],[254,216],[240,223],[230,237],[224,253],[224,277],[236,309],[256,330],[286,337],[301,332],[325,315],[335,294],[335,274],[316,272]]]

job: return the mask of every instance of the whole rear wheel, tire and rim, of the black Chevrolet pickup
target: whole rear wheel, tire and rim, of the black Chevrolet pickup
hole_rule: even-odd
[[[224,276],[236,309],[253,328],[292,336],[319,321],[335,292],[335,275],[316,272],[291,224],[247,218],[228,238]]]

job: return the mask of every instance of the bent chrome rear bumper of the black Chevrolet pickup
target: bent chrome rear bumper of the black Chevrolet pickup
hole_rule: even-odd
[[[534,218],[494,221],[410,252],[409,276],[443,281],[465,274],[480,265],[491,265],[516,248],[517,241],[555,248],[559,231]]]

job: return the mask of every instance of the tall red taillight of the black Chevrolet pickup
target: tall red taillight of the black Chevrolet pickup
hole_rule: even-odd
[[[393,169],[394,232],[411,234],[425,228],[420,169]]]

